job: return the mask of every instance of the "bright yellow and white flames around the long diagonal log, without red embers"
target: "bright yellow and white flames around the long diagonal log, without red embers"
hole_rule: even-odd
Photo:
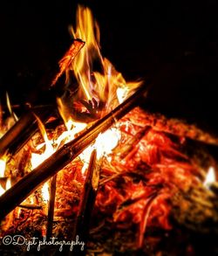
[[[78,6],[77,27],[76,29],[72,27],[72,36],[85,41],[85,47],[82,51],[78,52],[72,62],[72,70],[68,70],[68,73],[72,72],[74,74],[78,82],[78,91],[73,97],[73,104],[78,104],[79,114],[90,111],[87,105],[91,106],[93,111],[100,111],[100,115],[92,118],[92,121],[95,121],[103,114],[117,107],[123,100],[126,100],[126,97],[129,96],[137,86],[140,86],[140,82],[127,83],[122,74],[116,71],[114,66],[112,66],[112,63],[102,57],[99,46],[99,25],[93,19],[92,12],[88,8]],[[79,100],[84,101],[80,103]],[[63,146],[63,144],[72,141],[78,133],[84,130],[88,125],[89,121],[83,119],[81,119],[82,121],[80,122],[75,121],[71,108],[74,107],[74,105],[69,107],[69,102],[66,102],[65,98],[58,98],[57,102],[59,114],[65,122],[65,131],[63,131],[61,135],[58,134],[57,137],[56,135],[52,135],[51,138],[51,134],[46,132],[44,124],[36,116],[38,128],[44,142],[37,144],[34,152],[31,152],[30,162],[32,170],[43,163],[45,159],[50,157],[59,147]],[[86,102],[87,105],[84,104],[84,102]],[[16,121],[17,116],[11,109],[8,95],[7,105],[11,117]],[[106,156],[108,161],[110,161],[112,149],[116,148],[120,138],[121,132],[119,128],[116,127],[110,128],[100,134],[96,141],[78,156],[81,162],[84,163],[81,170],[82,174],[87,170],[88,161],[93,149],[97,149],[98,159],[102,156]],[[6,159],[2,157],[2,159],[0,159],[0,176],[4,176],[5,167]],[[10,182],[8,181],[10,181],[10,179],[7,180],[5,190],[10,188]],[[2,195],[5,190],[0,186],[0,195]],[[45,203],[50,200],[49,182],[43,184],[41,195]],[[26,199],[26,202],[34,204],[34,198],[35,197],[31,195]],[[17,216],[19,216],[19,213],[17,213]]]

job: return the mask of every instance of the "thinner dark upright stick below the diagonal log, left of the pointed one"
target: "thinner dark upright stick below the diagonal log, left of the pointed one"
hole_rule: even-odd
[[[48,220],[47,220],[47,232],[46,232],[47,239],[50,239],[52,237],[55,195],[56,195],[56,180],[57,180],[57,175],[55,175],[51,178],[50,199],[49,199]]]

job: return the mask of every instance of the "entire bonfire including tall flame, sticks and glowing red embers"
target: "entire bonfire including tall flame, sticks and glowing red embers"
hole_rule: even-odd
[[[51,82],[65,69],[72,69],[77,79],[76,90],[70,91],[73,99],[58,99],[65,127],[46,133],[44,121],[36,118],[43,138],[35,135],[22,149],[24,156],[18,152],[7,164],[0,159],[1,235],[28,232],[30,238],[37,232],[41,239],[47,232],[49,237],[72,239],[75,227],[73,239],[77,234],[84,239],[87,253],[178,255],[178,246],[182,255],[197,255],[192,235],[204,239],[218,233],[218,164],[207,150],[208,144],[216,147],[217,139],[136,107],[146,86],[120,103],[139,83],[126,83],[101,57],[91,29],[98,35],[99,27],[91,11],[80,7],[78,21],[81,27],[72,34],[84,39],[85,51],[78,52],[78,41]],[[69,66],[73,52],[78,54]],[[90,69],[92,55],[103,73]],[[75,121],[75,113],[83,124]],[[99,117],[84,130],[87,120]],[[99,154],[105,155],[100,173],[95,161]],[[19,179],[11,188],[9,176]],[[51,176],[55,178],[46,194]],[[215,252],[216,243],[210,248]]]

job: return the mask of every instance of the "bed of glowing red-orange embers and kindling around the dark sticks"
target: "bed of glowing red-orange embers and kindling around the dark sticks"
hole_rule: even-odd
[[[218,189],[216,183],[209,188],[204,184],[208,168],[215,166],[216,159],[204,147],[199,148],[198,143],[196,148],[191,145],[192,149],[188,149],[186,137],[176,136],[175,139],[160,131],[160,126],[151,126],[146,121],[147,115],[136,107],[118,121],[115,127],[121,133],[119,143],[109,159],[105,157],[98,163],[98,193],[93,209],[88,209],[92,211],[87,241],[87,253],[91,255],[139,250],[151,255],[178,255],[178,252],[189,255],[189,251],[193,253],[190,255],[196,255],[198,251],[194,250],[199,248],[190,242],[192,236],[199,239],[217,236]],[[178,125],[178,121],[176,123]],[[181,123],[181,129],[184,126]],[[63,127],[56,128],[49,136],[58,135],[61,129]],[[7,171],[15,176],[17,165],[24,172],[30,171],[28,152],[31,152],[32,143],[40,140],[41,136],[35,135],[24,147],[24,152],[10,160]],[[53,237],[72,239],[85,183],[85,174],[81,171],[83,165],[77,157],[58,172]],[[40,188],[30,200],[34,203],[21,204],[3,220],[2,236],[19,234],[32,238],[46,235],[46,205]],[[16,218],[17,214],[19,218]],[[174,246],[166,247],[174,235],[178,236],[174,243],[179,246],[175,252]],[[22,251],[22,246],[19,250]]]

